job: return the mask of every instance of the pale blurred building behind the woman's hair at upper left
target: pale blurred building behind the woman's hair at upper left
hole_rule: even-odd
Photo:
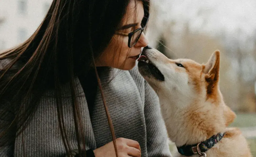
[[[0,50],[23,42],[41,23],[52,0],[1,0]]]

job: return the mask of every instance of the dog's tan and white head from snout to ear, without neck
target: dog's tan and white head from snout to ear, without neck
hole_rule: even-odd
[[[219,51],[215,51],[205,65],[191,59],[171,60],[153,48],[144,48],[138,61],[141,75],[157,93],[179,94],[180,97],[193,98],[204,90],[206,97],[217,94]]]

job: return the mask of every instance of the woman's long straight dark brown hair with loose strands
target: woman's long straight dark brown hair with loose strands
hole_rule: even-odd
[[[19,46],[0,54],[0,148],[14,142],[33,117],[42,94],[54,89],[61,136],[70,156],[61,103],[61,85],[69,83],[79,154],[84,154],[74,78],[90,82],[85,85],[88,90],[84,90],[89,108],[94,104],[99,86],[108,114],[94,58],[108,46],[129,2],[54,0],[34,34]],[[149,1],[143,0],[143,5],[148,12]],[[109,115],[108,121],[115,144]]]

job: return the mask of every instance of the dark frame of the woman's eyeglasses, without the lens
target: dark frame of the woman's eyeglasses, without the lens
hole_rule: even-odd
[[[142,28],[142,27],[141,27],[141,28],[138,28],[138,29],[136,29],[135,31],[133,31],[133,32],[131,32],[131,33],[115,32],[115,34],[121,35],[121,36],[128,36],[128,47],[131,48],[131,47],[133,47],[133,46],[139,41],[142,32],[144,31],[145,27],[147,26],[149,17],[150,17],[150,14],[149,14],[149,13],[147,13],[146,16],[143,17],[143,19],[142,19],[142,21],[141,21],[141,24],[142,24],[143,28]],[[141,31],[141,32],[140,32],[140,35],[138,35],[138,37],[137,37],[137,39],[136,39],[137,41],[131,45],[132,36],[133,36],[136,32],[138,32],[138,31]]]

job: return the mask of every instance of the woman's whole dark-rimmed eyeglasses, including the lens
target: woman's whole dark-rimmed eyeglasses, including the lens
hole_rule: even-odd
[[[138,28],[131,33],[115,32],[115,34],[121,35],[121,36],[128,36],[128,47],[133,47],[138,42],[142,32],[144,31],[145,27],[147,26],[149,17],[150,17],[149,13],[143,17],[143,19],[141,21],[141,25],[142,25],[141,28]]]

